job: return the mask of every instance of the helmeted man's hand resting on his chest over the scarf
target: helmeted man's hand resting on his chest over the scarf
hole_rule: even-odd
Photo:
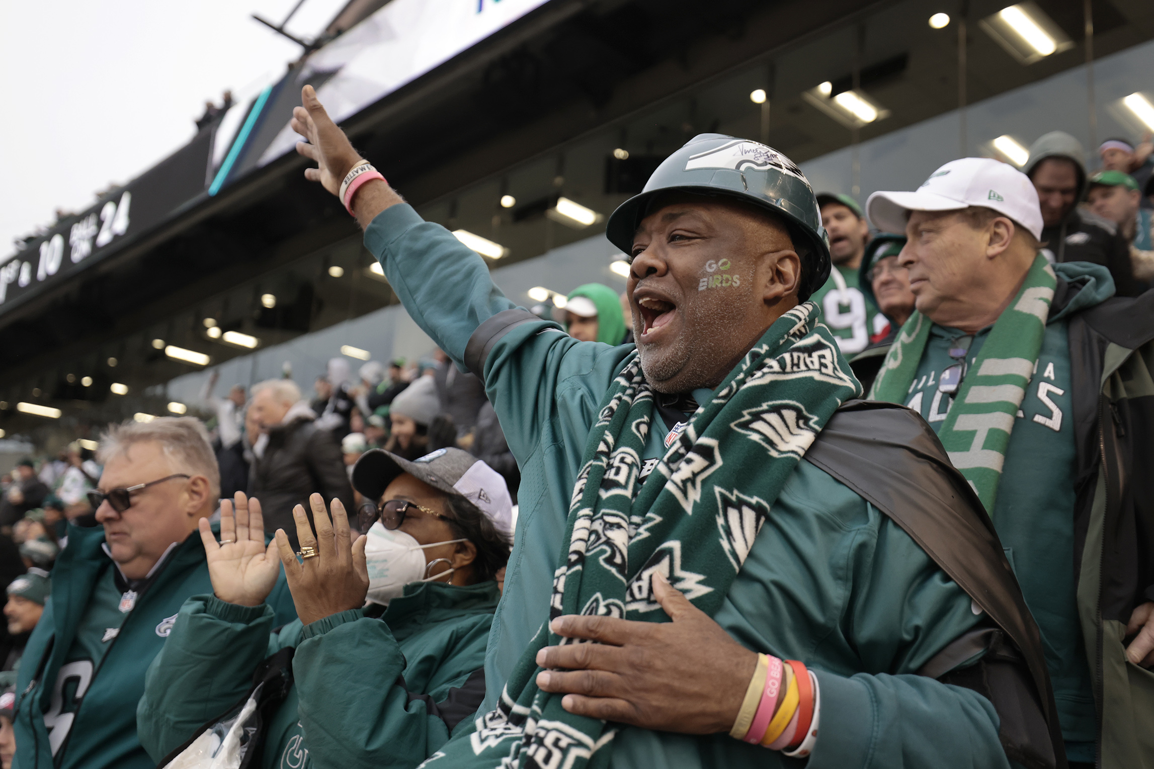
[[[672,623],[613,617],[557,617],[550,629],[598,643],[546,647],[537,653],[546,692],[564,693],[569,713],[643,729],[727,732],[741,709],[757,655],[721,629],[660,574],[653,595]]]

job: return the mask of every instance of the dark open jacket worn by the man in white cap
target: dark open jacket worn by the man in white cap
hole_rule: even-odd
[[[1097,763],[1154,769],[1154,671],[1125,656],[1130,615],[1154,601],[1154,291],[1106,299],[1112,280],[1100,265],[1065,263],[1055,271],[1050,316],[1064,317],[1070,348],[1073,568],[1097,709]],[[1082,276],[1104,293],[1086,302]],[[886,352],[854,359],[867,389]]]

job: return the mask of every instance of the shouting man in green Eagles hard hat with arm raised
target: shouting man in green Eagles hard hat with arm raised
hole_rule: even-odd
[[[805,301],[830,252],[796,165],[717,134],[670,154],[608,221],[636,339],[613,347],[505,299],[302,101],[306,178],[522,469],[486,701],[422,766],[1065,766],[980,503],[920,420],[856,400]]]

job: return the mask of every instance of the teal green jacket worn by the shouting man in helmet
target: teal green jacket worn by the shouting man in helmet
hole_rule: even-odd
[[[522,468],[516,542],[486,658],[481,707],[492,709],[547,617],[589,430],[632,347],[578,342],[514,309],[479,256],[407,205],[377,216],[365,243],[417,324],[482,376]],[[816,671],[823,729],[811,769],[1007,766],[989,701],[912,674],[979,620],[969,597],[897,525],[812,463],[787,482],[714,619],[749,648]],[[727,734],[629,727],[614,740],[612,764],[792,760]]]

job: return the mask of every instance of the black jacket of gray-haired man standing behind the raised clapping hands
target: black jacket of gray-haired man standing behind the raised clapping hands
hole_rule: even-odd
[[[264,455],[254,455],[248,469],[248,496],[261,500],[264,530],[272,534],[284,529],[295,549],[292,508],[304,505],[312,522],[308,496],[313,492],[324,497],[325,505],[336,497],[350,515],[355,514],[353,490],[337,438],[317,429],[313,419],[301,416],[269,430]]]

